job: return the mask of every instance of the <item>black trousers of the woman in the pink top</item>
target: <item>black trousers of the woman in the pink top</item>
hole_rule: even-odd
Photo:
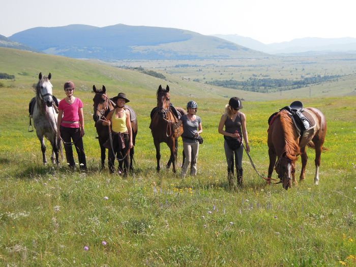
[[[65,142],[70,143],[72,140],[74,142],[75,150],[78,154],[78,161],[80,169],[86,169],[86,160],[83,146],[83,138],[80,136],[80,128],[69,128],[61,126],[61,137]],[[73,149],[71,144],[64,144],[64,149],[66,151],[66,158],[69,167],[74,168],[75,162],[73,158]]]

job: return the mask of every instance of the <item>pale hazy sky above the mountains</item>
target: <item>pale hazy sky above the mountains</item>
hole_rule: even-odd
[[[356,38],[354,0],[1,0],[0,34],[38,26],[118,23],[238,34],[263,43]]]

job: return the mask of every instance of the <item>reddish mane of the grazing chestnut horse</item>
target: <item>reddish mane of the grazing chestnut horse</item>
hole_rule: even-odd
[[[298,143],[294,139],[294,128],[293,122],[289,115],[286,112],[279,112],[278,116],[280,117],[281,126],[284,134],[285,140],[285,157],[294,161],[298,159],[298,156],[301,155],[301,150]]]

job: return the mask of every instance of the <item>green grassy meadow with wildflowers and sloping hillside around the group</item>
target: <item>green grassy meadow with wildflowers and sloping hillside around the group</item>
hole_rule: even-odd
[[[242,111],[251,157],[266,174],[268,117],[295,100],[294,91],[273,100],[270,95],[204,87],[174,75],[163,81],[64,57],[0,49],[0,58],[0,72],[16,76],[0,80],[0,265],[356,264],[356,97],[299,97],[328,121],[324,145],[330,151],[321,157],[319,186],[313,185],[314,153],[308,150],[306,180],[297,187],[285,191],[281,185],[266,185],[244,155],[244,185],[229,192],[223,138],[217,133],[228,100],[224,96],[245,94]],[[52,73],[58,98],[64,97],[66,80],[77,86],[75,95],[84,103],[87,173],[69,172],[65,161],[58,168],[42,165],[36,134],[27,132],[28,101],[40,71]],[[191,99],[199,105],[204,143],[196,177],[182,180],[165,169],[156,173],[149,114],[158,85],[166,83],[175,105]],[[125,92],[138,114],[135,172],[127,179],[110,175],[107,168],[98,171],[93,84],[105,84],[109,96]],[[164,165],[169,151],[165,144],[161,148]],[[297,171],[300,168],[299,161]]]

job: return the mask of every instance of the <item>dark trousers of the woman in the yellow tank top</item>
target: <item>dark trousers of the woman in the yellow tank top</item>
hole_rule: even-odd
[[[120,141],[118,138],[118,134],[112,133],[112,148],[114,153],[112,152],[111,147],[109,148],[109,171],[110,173],[115,172],[115,157],[118,159],[118,170],[121,171],[124,175],[127,175],[130,170],[130,154],[128,154],[128,150],[130,149],[130,136],[128,133],[123,134],[125,148],[120,149]],[[124,166],[123,166],[124,164]]]

